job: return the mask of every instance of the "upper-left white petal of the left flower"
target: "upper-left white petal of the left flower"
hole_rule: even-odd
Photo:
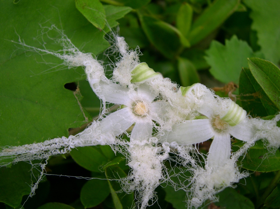
[[[106,83],[100,82],[100,86],[96,88],[96,95],[106,102],[119,104],[119,105],[128,105],[129,104],[129,93],[128,88],[120,86],[115,83]]]

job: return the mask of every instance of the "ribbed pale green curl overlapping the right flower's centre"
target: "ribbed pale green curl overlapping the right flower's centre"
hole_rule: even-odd
[[[228,112],[221,118],[230,126],[239,124],[246,117],[246,111],[235,102],[231,101]]]

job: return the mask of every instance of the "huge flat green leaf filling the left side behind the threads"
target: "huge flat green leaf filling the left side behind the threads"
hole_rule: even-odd
[[[0,146],[68,136],[68,128],[91,119],[81,111],[73,92],[64,88],[66,83],[84,79],[84,70],[59,66],[60,59],[21,50],[11,40],[17,42],[20,36],[27,45],[43,48],[40,41],[44,39],[45,47],[62,49],[54,41],[59,38],[56,30],[41,35],[48,30],[43,27],[56,25],[77,47],[84,45],[81,50],[97,55],[108,47],[104,33],[77,11],[74,1],[1,1],[0,7],[5,8],[0,14],[0,77],[5,78],[0,82]]]

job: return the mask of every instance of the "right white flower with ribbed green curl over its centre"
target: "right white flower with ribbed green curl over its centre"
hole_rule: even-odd
[[[210,99],[212,96],[212,99]],[[173,126],[161,141],[189,145],[213,138],[209,149],[207,166],[223,166],[231,156],[231,136],[242,141],[254,137],[246,111],[230,99],[216,99],[213,95],[205,96],[204,102],[197,109],[205,119],[185,120]],[[209,101],[211,101],[209,103]],[[199,117],[198,117],[199,118]]]

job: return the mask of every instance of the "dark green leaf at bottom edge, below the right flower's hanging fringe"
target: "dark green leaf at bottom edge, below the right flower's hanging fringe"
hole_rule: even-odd
[[[253,202],[249,198],[239,194],[233,188],[226,188],[222,192],[217,194],[219,196],[219,202],[215,205],[226,209],[254,209]]]

